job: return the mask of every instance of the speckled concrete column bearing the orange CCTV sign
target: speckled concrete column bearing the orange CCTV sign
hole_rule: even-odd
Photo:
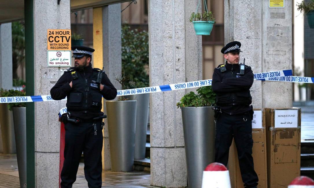
[[[47,29],[71,29],[70,0],[34,0],[35,95],[47,95],[61,76],[60,68],[47,67]],[[62,71],[63,73],[63,71]],[[60,122],[65,102],[35,102],[35,185],[58,187]]]

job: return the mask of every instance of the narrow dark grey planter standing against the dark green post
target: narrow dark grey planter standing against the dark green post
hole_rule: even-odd
[[[13,108],[20,187],[26,187],[26,107]]]

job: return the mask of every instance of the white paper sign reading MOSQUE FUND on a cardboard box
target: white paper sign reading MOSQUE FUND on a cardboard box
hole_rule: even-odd
[[[298,110],[275,110],[275,128],[297,128]]]

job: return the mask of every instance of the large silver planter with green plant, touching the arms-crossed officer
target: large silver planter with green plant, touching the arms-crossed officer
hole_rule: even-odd
[[[215,123],[211,107],[182,107],[189,188],[202,187],[203,170],[215,159]]]

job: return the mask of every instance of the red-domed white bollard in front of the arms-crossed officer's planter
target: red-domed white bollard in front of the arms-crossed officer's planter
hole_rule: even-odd
[[[231,188],[229,171],[221,163],[211,163],[203,171],[202,188]]]

